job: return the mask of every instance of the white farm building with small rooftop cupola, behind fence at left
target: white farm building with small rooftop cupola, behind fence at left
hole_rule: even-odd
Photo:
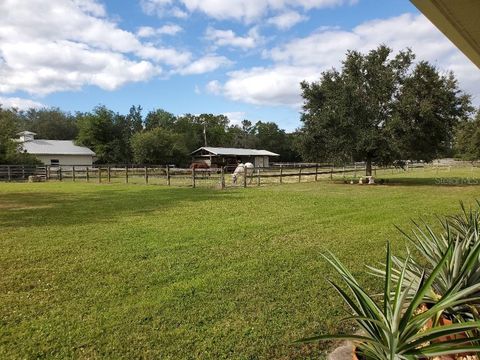
[[[35,155],[44,165],[52,166],[91,166],[95,153],[87,147],[78,146],[72,140],[35,139],[35,133],[22,131],[17,135],[19,151]]]

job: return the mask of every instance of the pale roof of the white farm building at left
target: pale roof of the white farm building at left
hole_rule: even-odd
[[[95,153],[87,147],[78,146],[72,140],[30,140],[21,143],[22,150],[34,155],[89,155]]]

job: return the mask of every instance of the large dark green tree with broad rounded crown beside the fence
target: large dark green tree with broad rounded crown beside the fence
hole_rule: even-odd
[[[373,162],[428,161],[444,148],[469,111],[469,98],[452,74],[439,75],[425,62],[412,71],[410,50],[391,53],[383,45],[365,55],[349,51],[341,71],[301,84],[305,159],[361,160],[371,175]]]

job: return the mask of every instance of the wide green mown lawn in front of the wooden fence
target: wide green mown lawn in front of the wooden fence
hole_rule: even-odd
[[[1,183],[0,358],[318,358],[329,344],[292,341],[349,330],[322,252],[376,291],[364,264],[387,239],[404,251],[394,225],[480,198],[478,171],[382,176],[227,191]]]

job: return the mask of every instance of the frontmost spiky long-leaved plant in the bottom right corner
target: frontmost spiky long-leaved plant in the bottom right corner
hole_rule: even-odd
[[[350,307],[352,316],[361,328],[359,335],[320,335],[299,340],[299,342],[316,342],[320,340],[351,340],[356,344],[359,357],[367,359],[415,359],[465,352],[480,351],[480,345],[472,338],[457,338],[480,327],[480,321],[457,323],[448,326],[432,326],[432,318],[444,309],[463,304],[470,300],[465,290],[449,293],[439,299],[431,308],[419,313],[418,308],[432,284],[440,275],[448,261],[453,247],[440,259],[435,268],[427,275],[423,273],[420,281],[410,282],[406,277],[410,258],[393,281],[393,260],[390,244],[387,244],[386,271],[384,274],[383,304],[378,304],[374,297],[368,295],[355,277],[332,254],[326,257],[328,262],[340,274],[346,287],[343,290],[331,282],[345,303]],[[412,297],[410,294],[415,293]]]

